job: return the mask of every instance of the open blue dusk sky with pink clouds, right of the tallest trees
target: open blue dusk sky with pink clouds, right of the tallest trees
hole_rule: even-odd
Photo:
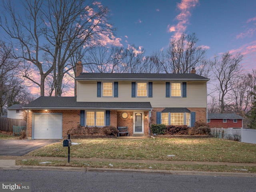
[[[116,38],[153,51],[168,48],[182,32],[196,33],[208,58],[227,51],[256,69],[256,0],[100,0],[110,9]]]

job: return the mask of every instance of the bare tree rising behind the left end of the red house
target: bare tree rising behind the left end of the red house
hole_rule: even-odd
[[[240,62],[242,55],[237,53],[232,55],[229,52],[222,54],[220,60],[215,56],[212,63],[214,77],[217,81],[216,91],[219,94],[219,101],[221,102],[221,113],[225,112],[225,107],[230,103],[230,99],[226,98],[228,93],[237,87],[237,81],[242,73]]]

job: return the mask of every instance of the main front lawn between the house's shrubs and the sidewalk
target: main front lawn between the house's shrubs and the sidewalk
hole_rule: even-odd
[[[216,138],[146,138],[72,140],[71,157],[134,160],[256,163],[256,145]],[[58,149],[58,150],[57,150]],[[175,155],[173,158],[168,155]],[[50,144],[27,156],[67,157],[62,142]]]

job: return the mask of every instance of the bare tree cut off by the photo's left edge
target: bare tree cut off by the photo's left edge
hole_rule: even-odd
[[[11,54],[11,48],[0,41],[0,116],[4,106],[11,106],[15,98],[23,89],[19,78],[18,62]]]

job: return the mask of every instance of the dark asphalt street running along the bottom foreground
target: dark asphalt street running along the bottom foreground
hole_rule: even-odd
[[[254,177],[140,172],[0,170],[1,182],[31,182],[32,192],[255,192]]]

